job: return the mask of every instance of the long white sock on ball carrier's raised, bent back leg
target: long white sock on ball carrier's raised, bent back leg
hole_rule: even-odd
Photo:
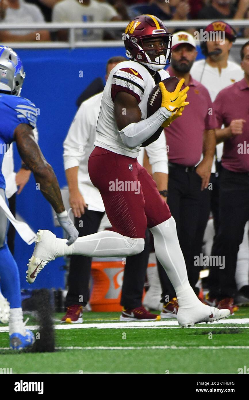
[[[117,232],[104,230],[92,235],[82,236],[66,245],[65,239],[56,238],[56,257],[78,254],[88,257],[122,257],[141,253],[144,239],[129,238]]]

